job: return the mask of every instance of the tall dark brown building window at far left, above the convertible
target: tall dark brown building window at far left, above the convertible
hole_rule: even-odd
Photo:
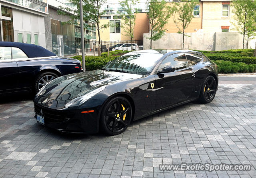
[[[11,20],[2,20],[4,42],[14,42],[12,9],[1,7],[2,16],[10,17]]]

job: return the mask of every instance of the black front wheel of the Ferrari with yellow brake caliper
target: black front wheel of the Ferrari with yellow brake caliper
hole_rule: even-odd
[[[127,129],[131,120],[132,105],[128,99],[115,97],[104,105],[100,116],[100,127],[108,135],[117,135]]]

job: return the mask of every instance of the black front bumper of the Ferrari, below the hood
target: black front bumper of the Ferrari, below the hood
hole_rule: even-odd
[[[68,133],[97,133],[99,123],[99,109],[50,109],[34,104],[35,114],[44,117],[44,125],[61,132]],[[82,111],[94,110],[92,113]],[[35,115],[35,118],[36,118]]]

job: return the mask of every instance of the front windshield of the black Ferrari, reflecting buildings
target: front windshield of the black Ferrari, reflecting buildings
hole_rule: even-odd
[[[111,61],[103,69],[146,75],[152,71],[156,61],[162,56],[162,54],[157,53],[128,53]]]

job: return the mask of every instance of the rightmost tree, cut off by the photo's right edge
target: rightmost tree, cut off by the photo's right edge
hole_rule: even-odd
[[[233,0],[231,3],[232,12],[234,13],[234,20],[232,22],[234,29],[243,35],[243,49],[244,40],[247,35],[247,45],[249,38],[254,36],[254,17],[256,3],[252,0]]]

